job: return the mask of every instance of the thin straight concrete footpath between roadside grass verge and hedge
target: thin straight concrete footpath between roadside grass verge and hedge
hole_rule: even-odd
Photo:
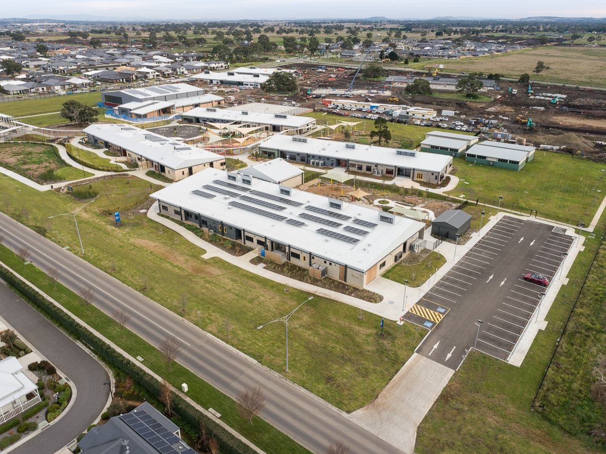
[[[141,367],[141,369],[143,369],[145,372],[147,372],[148,374],[150,374],[151,376],[153,376],[154,378],[156,378],[159,382],[162,382],[164,380],[161,376],[159,376],[155,372],[153,372],[153,370],[148,369],[147,366],[145,366],[144,364],[142,364],[141,362],[139,362],[138,359],[133,358],[133,356],[131,356],[130,353],[125,352],[120,347],[118,347],[116,344],[114,344],[112,341],[110,341],[110,339],[105,338],[104,335],[102,335],[97,330],[95,330],[93,327],[91,327],[90,325],[88,325],[85,321],[83,321],[82,319],[78,318],[73,313],[68,312],[61,304],[59,304],[58,302],[56,302],[55,299],[51,298],[46,293],[42,292],[41,289],[38,289],[38,287],[36,287],[36,285],[32,284],[32,282],[28,281],[23,276],[21,276],[18,273],[16,273],[14,270],[6,267],[4,264],[0,263],[0,265],[2,267],[4,267],[5,269],[7,269],[8,272],[12,273],[13,275],[17,276],[19,279],[21,279],[22,281],[24,281],[27,285],[30,285],[30,287],[32,287],[34,290],[36,290],[36,292],[40,293],[42,296],[44,296],[44,298],[48,299],[48,301],[52,302],[56,307],[58,307],[58,309],[62,310],[62,312],[65,312],[67,315],[69,315],[70,317],[72,317],[76,322],[78,322],[78,324],[82,325],[82,327],[85,327],[87,330],[89,330],[90,332],[92,332],[99,339],[101,339],[102,341],[106,342],[110,347],[112,347],[112,349],[116,350],[116,352],[120,353],[122,356],[124,356],[125,358],[127,358],[129,361],[131,361],[131,362],[135,363],[137,366]],[[202,333],[205,333],[205,332],[202,331]],[[136,333],[135,333],[135,335],[136,335]],[[145,342],[147,342],[147,341],[145,341]],[[179,364],[181,364],[181,363],[179,363]],[[187,367],[185,367],[185,369],[189,370]],[[192,371],[190,371],[190,372],[192,372]],[[194,373],[194,372],[192,372],[192,373]],[[205,416],[208,416],[208,418],[212,419],[217,424],[219,424],[220,426],[222,426],[225,430],[227,430],[228,432],[230,432],[231,435],[235,436],[236,438],[239,438],[242,442],[244,442],[245,444],[247,444],[248,446],[250,446],[252,449],[256,450],[256,452],[258,452],[259,454],[265,454],[265,452],[263,450],[259,449],[253,443],[251,443],[250,441],[248,441],[248,439],[244,438],[242,435],[240,435],[238,432],[236,432],[230,426],[228,426],[227,424],[225,424],[225,422],[221,421],[219,418],[216,418],[215,415],[213,415],[212,413],[208,412],[200,404],[198,404],[197,402],[195,402],[192,399],[190,399],[188,396],[186,396],[184,393],[182,393],[180,390],[176,389],[175,387],[171,386],[171,388],[172,388],[173,392],[175,392],[176,394],[178,394],[185,401],[189,402],[191,404],[191,406],[195,407],[196,410],[198,410],[199,412],[203,413]],[[65,411],[67,411],[67,409]],[[59,419],[60,417],[61,417],[61,415],[59,415],[59,417],[57,419]],[[57,419],[55,419],[55,421]],[[52,424],[52,422],[50,424]],[[13,447],[14,447],[14,445],[13,445]]]

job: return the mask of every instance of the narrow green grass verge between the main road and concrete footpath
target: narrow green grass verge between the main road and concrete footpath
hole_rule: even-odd
[[[308,453],[307,449],[261,418],[255,417],[253,425],[250,425],[246,419],[239,416],[236,402],[233,399],[181,366],[181,364],[173,363],[173,370],[169,370],[167,362],[164,361],[158,349],[148,344],[128,328],[124,330],[125,339],[122,339],[121,329],[112,317],[93,305],[88,307],[90,309],[89,313],[81,304],[81,298],[76,293],[60,283],[57,284],[55,290],[44,272],[33,265],[24,267],[22,261],[16,259],[12,251],[2,245],[0,245],[0,261],[16,270],[25,279],[59,302],[68,312],[84,320],[93,329],[130,353],[130,355],[140,355],[145,358],[146,367],[167,379],[177,389],[181,388],[182,383],[188,383],[190,387],[187,393],[188,397],[206,409],[213,408],[217,410],[221,413],[221,421],[233,427],[265,452],[276,454],[285,452]]]

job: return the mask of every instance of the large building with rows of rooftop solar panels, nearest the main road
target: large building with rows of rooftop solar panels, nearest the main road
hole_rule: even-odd
[[[425,228],[382,210],[216,169],[151,197],[159,213],[359,288],[407,255]]]

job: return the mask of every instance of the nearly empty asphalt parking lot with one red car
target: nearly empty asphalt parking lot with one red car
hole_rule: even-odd
[[[511,216],[484,232],[405,315],[431,330],[418,353],[456,369],[475,344],[507,361],[527,324],[536,320],[533,315],[548,289],[524,275],[540,273],[550,282],[559,277],[574,242],[564,232]]]

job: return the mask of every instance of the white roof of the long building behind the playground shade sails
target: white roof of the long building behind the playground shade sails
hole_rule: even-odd
[[[244,113],[247,112],[247,113]],[[258,113],[248,110],[227,110],[215,107],[196,107],[183,113],[184,117],[204,118],[205,121],[255,123],[264,125],[279,125],[291,128],[301,128],[315,124],[316,119],[307,116],[284,115],[281,113]],[[284,118],[285,117],[285,118]]]

